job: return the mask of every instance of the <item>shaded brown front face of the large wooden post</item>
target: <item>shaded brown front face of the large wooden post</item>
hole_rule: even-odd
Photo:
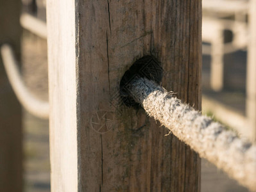
[[[111,104],[133,61],[152,54],[162,62],[163,86],[200,109],[201,2],[78,1],[77,8],[79,189],[200,191],[196,153],[164,136],[142,109],[120,115]],[[90,124],[98,111],[114,113],[103,134]]]

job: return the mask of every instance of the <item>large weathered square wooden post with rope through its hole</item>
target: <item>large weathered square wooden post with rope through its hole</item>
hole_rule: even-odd
[[[200,191],[200,157],[119,102],[152,54],[163,86],[201,108],[201,1],[47,1],[51,189]]]

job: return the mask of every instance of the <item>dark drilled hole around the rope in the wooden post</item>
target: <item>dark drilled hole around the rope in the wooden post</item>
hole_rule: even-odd
[[[163,71],[160,62],[153,56],[143,56],[135,61],[135,63],[126,70],[120,82],[119,92],[124,104],[128,107],[139,108],[139,104],[137,104],[128,93],[127,87],[131,81],[143,77],[160,84]]]

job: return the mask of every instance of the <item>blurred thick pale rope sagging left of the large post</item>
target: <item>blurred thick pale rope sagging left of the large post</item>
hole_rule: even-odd
[[[2,45],[1,56],[10,84],[22,106],[35,116],[45,119],[49,118],[49,103],[37,99],[26,88],[22,81],[19,68],[17,67],[17,61],[15,60],[12,47],[8,44]]]

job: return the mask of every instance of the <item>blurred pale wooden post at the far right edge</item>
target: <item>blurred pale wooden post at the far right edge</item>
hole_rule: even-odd
[[[256,139],[256,0],[249,6],[248,63],[246,79],[246,116],[254,139]]]

